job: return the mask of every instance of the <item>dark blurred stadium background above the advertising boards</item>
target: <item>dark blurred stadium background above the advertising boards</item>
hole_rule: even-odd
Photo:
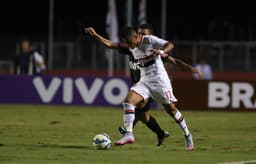
[[[139,20],[143,12],[139,4],[140,1],[116,2],[118,29],[126,24],[136,27],[144,21]],[[174,42],[174,56],[195,65],[205,55],[215,72],[256,70],[254,1],[198,1],[186,5],[179,1],[146,1],[145,5],[145,20],[154,26],[156,35]],[[24,38],[39,48],[49,70],[102,71],[112,64],[115,71],[125,71],[127,64],[123,57],[105,56],[104,47],[82,32],[83,27],[93,26],[107,37],[107,12],[108,1],[102,0],[4,1],[0,27],[1,71],[19,53]]]

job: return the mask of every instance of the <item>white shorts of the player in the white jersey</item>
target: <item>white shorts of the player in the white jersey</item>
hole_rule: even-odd
[[[161,104],[170,104],[178,101],[173,94],[169,79],[140,80],[131,87],[131,90],[141,95],[145,100],[151,97]]]

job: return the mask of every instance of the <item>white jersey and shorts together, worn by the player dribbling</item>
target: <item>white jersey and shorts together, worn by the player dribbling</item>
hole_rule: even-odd
[[[137,47],[130,49],[141,72],[140,81],[134,84],[131,90],[145,100],[151,97],[161,104],[177,101],[161,56],[154,57],[150,51],[151,49],[163,49],[166,43],[166,40],[153,35],[146,35],[141,37],[141,42]]]

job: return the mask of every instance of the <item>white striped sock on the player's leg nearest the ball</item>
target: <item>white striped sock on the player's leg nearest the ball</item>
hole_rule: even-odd
[[[133,130],[133,121],[135,119],[135,106],[129,103],[123,103],[124,109],[124,127],[128,132]]]

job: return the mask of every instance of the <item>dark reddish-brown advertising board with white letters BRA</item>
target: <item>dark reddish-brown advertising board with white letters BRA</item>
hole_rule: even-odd
[[[182,109],[248,109],[256,111],[256,81],[174,80]]]

